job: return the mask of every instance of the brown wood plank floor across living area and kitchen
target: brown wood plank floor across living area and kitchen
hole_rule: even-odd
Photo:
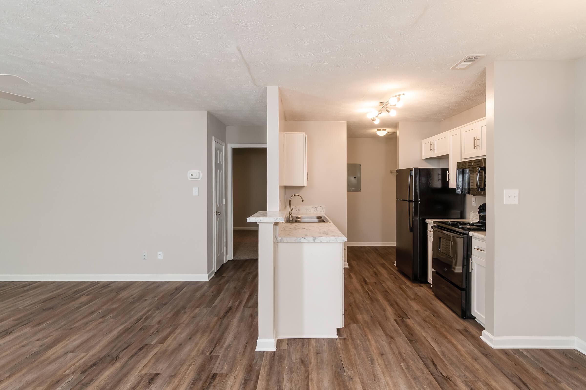
[[[255,352],[257,261],[209,282],[0,283],[0,389],[586,389],[575,350],[493,350],[393,266],[349,247],[338,339]]]

